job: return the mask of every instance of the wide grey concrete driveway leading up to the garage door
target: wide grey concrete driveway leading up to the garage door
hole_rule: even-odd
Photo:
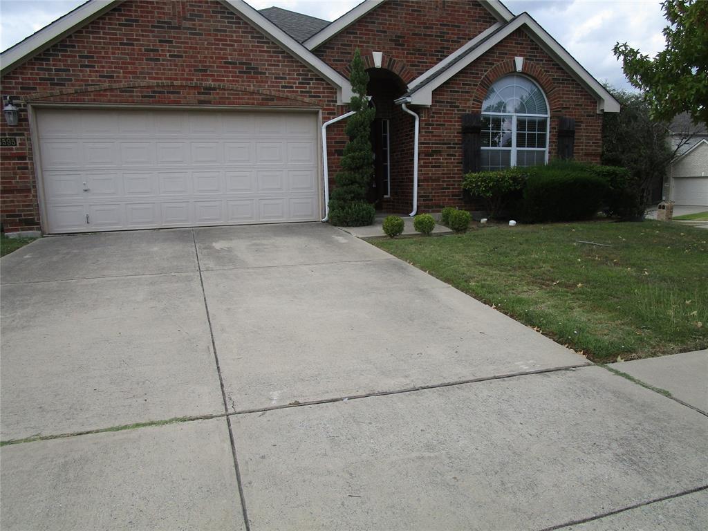
[[[0,265],[3,530],[708,520],[704,414],[338,229],[62,236]]]

